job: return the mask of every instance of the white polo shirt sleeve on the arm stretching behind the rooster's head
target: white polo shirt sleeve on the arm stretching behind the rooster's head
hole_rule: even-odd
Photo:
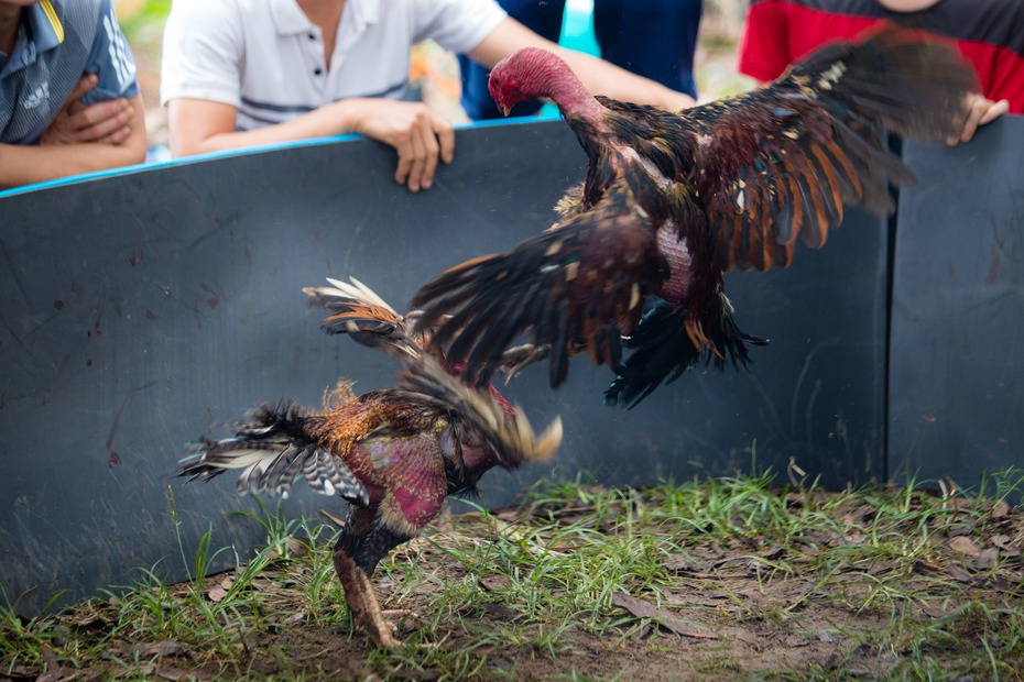
[[[472,51],[506,13],[494,0],[413,0],[416,42],[433,38],[458,54]]]

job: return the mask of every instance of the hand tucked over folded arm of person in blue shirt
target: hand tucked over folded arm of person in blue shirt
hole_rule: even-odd
[[[68,96],[59,113],[40,138],[40,144],[81,144],[100,142],[121,144],[131,129],[128,123],[135,112],[124,98],[83,105],[83,95],[96,87],[99,79],[87,74]]]

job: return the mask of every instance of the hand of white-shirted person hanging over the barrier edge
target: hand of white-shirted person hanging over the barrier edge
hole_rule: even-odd
[[[364,99],[360,105],[356,132],[390,144],[399,153],[394,182],[405,184],[410,191],[429,189],[438,157],[447,164],[455,154],[451,123],[420,102]]]

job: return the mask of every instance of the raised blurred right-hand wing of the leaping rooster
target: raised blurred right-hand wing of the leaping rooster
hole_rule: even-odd
[[[955,50],[886,28],[826,47],[765,88],[688,110],[690,177],[721,230],[721,267],[788,265],[796,237],[820,248],[845,204],[892,210],[887,185],[915,178],[878,130],[941,140],[973,87]]]

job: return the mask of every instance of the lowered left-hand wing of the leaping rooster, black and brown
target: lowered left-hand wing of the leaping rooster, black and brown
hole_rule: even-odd
[[[620,334],[636,324],[644,298],[664,276],[654,229],[623,179],[593,208],[513,251],[443,273],[412,305],[424,310],[417,324],[453,315],[435,341],[450,341],[450,362],[466,360],[478,381],[525,336],[549,346],[549,380],[557,386],[569,355],[586,351],[596,364],[618,363]]]

